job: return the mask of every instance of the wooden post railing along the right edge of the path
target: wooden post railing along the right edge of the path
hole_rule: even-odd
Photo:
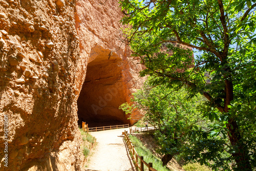
[[[127,134],[127,131],[124,131],[124,139],[129,147],[129,151],[132,154],[132,158],[135,161],[136,166],[140,169],[140,171],[144,171],[144,165],[146,167],[148,167],[148,171],[157,171],[157,169],[153,168],[153,163],[146,163],[143,160],[143,156],[139,156],[138,153],[135,150],[134,145],[131,142],[131,139],[129,138],[129,135]],[[140,159],[140,164],[139,164],[139,160]]]

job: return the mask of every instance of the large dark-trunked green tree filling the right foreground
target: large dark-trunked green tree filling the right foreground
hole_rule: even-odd
[[[191,157],[214,161],[203,152],[225,148],[225,161],[234,163],[233,170],[252,170],[256,165],[255,2],[120,0],[122,22],[132,27],[126,30],[127,40],[146,68],[141,76],[159,78],[155,84],[187,86],[191,96],[201,93],[208,99],[204,116],[221,123],[211,134],[215,136],[204,140],[215,144],[210,141],[218,140],[216,136],[228,137],[218,141],[218,148],[208,145],[200,149],[201,156]],[[192,49],[201,53],[195,60]]]

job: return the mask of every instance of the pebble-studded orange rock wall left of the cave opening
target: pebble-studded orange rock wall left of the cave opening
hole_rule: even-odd
[[[79,169],[74,11],[74,1],[0,1],[0,170]],[[63,146],[72,160],[59,160]]]

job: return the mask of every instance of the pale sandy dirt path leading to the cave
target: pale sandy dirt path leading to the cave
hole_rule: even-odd
[[[135,171],[122,132],[129,128],[90,133],[97,139],[97,149],[86,171]]]

